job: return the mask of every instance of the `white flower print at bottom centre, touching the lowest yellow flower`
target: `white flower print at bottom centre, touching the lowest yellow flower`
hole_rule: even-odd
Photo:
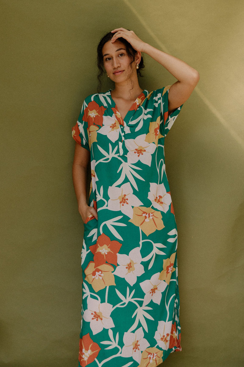
[[[135,333],[124,333],[124,346],[121,351],[121,356],[132,357],[135,361],[140,363],[142,358],[142,351],[150,345],[149,342],[143,337],[144,333],[142,327],[137,329]]]

